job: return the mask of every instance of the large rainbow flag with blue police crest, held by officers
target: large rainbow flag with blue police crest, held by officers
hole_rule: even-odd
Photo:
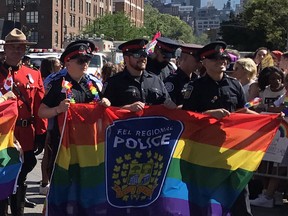
[[[46,215],[229,215],[280,120],[72,104]],[[65,124],[64,124],[65,122]]]

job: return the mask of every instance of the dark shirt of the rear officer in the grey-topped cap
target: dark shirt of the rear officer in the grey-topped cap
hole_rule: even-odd
[[[175,73],[175,68],[170,63],[160,63],[156,59],[152,59],[150,56],[148,56],[146,71],[158,76],[161,80],[164,80],[170,74]]]

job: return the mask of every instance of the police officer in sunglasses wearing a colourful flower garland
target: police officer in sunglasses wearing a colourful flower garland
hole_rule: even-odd
[[[58,114],[66,112],[70,103],[94,102],[104,106],[110,105],[107,99],[102,98],[101,81],[94,75],[85,73],[94,49],[94,43],[88,40],[72,42],[60,57],[60,61],[65,65],[65,68],[51,75],[49,80],[45,80],[47,88],[38,114],[42,118],[52,118],[53,122],[50,131],[50,139],[53,145],[51,146],[52,152],[48,162],[49,171],[53,168],[60,140],[57,124]],[[62,83],[66,84],[63,86]],[[48,174],[51,175],[51,173]]]

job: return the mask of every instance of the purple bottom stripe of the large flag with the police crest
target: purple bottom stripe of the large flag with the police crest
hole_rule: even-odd
[[[97,196],[97,195],[96,195]],[[115,208],[108,203],[101,205],[91,206],[89,208],[83,208],[77,202],[69,202],[63,205],[48,205],[49,215],[85,215],[85,216],[207,216],[207,215],[223,215],[229,216],[229,213],[225,213],[221,205],[217,203],[210,203],[209,206],[199,207],[191,204],[186,200],[175,198],[158,198],[154,203],[147,207],[142,208]]]

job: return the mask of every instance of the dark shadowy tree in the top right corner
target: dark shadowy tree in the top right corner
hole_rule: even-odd
[[[284,50],[288,36],[288,1],[250,0],[243,13],[221,24],[223,40],[236,48],[255,51],[260,46]]]

